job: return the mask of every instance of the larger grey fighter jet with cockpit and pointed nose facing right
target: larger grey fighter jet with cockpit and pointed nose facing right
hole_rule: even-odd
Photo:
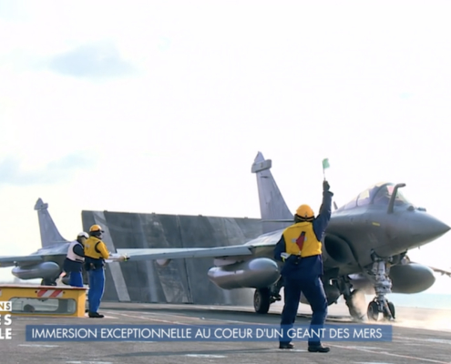
[[[281,299],[281,263],[273,259],[273,249],[283,228],[293,221],[271,167],[272,160],[265,160],[260,152],[251,167],[259,191],[260,237],[239,246],[118,249],[118,254],[127,254],[130,261],[157,260],[161,266],[175,258],[214,258],[214,267],[208,271],[210,280],[223,289],[255,288],[255,311],[267,313],[271,304]],[[407,252],[443,236],[450,227],[425,208],[415,207],[401,193],[402,187],[404,183],[387,182],[365,189],[332,212],[323,236],[323,284],[328,304],[343,296],[354,319],[395,319],[388,293],[422,292],[435,282],[435,268],[411,262]],[[362,308],[359,302],[368,290],[374,299]],[[303,295],[301,302],[308,304]]]

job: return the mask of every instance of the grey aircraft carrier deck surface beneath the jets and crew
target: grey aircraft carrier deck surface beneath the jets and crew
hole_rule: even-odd
[[[13,318],[13,339],[2,340],[2,364],[116,364],[116,363],[451,363],[451,310],[397,308],[391,342],[334,341],[329,353],[309,353],[306,342],[293,341],[292,350],[278,349],[277,341],[262,342],[33,342],[26,341],[26,325],[44,324],[273,324],[280,322],[281,304],[268,315],[249,307],[103,303],[105,319]],[[300,312],[308,312],[308,308]],[[297,324],[308,324],[300,313]],[[343,306],[330,308],[328,323],[352,321]],[[410,327],[408,327],[410,326]],[[2,326],[5,328],[5,326]]]

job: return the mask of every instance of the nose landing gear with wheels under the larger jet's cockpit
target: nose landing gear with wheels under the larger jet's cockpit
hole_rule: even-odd
[[[392,258],[380,258],[373,253],[373,265],[369,274],[374,279],[375,297],[368,305],[368,319],[377,321],[380,314],[384,319],[395,320],[395,305],[385,295],[392,292],[392,280],[389,278]]]

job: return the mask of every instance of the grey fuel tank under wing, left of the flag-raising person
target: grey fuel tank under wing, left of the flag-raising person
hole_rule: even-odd
[[[213,267],[210,281],[222,289],[267,288],[280,277],[277,263],[269,258],[255,258],[229,266]]]

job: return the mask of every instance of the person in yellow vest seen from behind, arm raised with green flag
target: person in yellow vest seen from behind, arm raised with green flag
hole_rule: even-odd
[[[333,193],[329,183],[323,181],[323,204],[320,214],[314,217],[308,205],[301,205],[294,215],[294,224],[285,228],[282,238],[274,248],[274,258],[283,261],[281,271],[285,305],[282,311],[281,328],[285,335],[280,339],[280,349],[292,349],[288,329],[296,319],[301,292],[307,298],[313,311],[310,329],[321,333],[327,316],[327,298],[323,288],[322,243],[324,231],[332,214]],[[309,338],[311,352],[328,352],[318,336]]]

